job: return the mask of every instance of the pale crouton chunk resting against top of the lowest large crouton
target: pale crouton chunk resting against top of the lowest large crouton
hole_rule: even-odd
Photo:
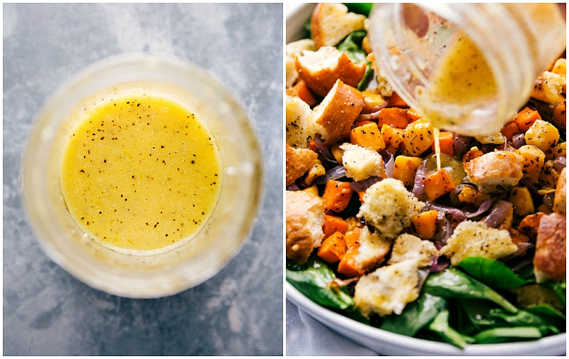
[[[438,256],[439,251],[432,242],[422,240],[416,235],[403,233],[393,243],[393,250],[391,251],[391,258],[388,264],[414,259],[418,262],[418,267],[429,267]]]

